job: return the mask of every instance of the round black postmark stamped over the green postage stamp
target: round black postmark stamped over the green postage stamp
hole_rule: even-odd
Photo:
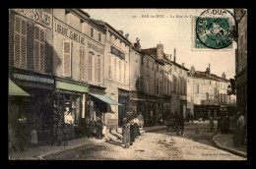
[[[206,47],[227,48],[234,40],[237,24],[233,15],[224,9],[209,9],[196,20],[196,36]]]

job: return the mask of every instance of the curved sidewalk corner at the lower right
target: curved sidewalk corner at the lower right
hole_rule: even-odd
[[[241,146],[241,147],[234,147],[233,146],[233,141],[232,141],[232,134],[217,134],[214,138],[213,141],[216,143],[216,145],[219,148],[222,148],[226,151],[229,151],[231,153],[243,156],[243,157],[247,157],[247,149],[245,146]]]

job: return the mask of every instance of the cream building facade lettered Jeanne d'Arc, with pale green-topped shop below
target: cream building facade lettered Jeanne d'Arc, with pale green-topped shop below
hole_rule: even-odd
[[[70,138],[84,136],[89,120],[106,112],[103,59],[105,31],[79,9],[53,9],[53,75],[58,122]]]

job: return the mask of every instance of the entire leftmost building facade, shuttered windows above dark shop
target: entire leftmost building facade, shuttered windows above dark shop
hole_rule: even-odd
[[[28,147],[32,129],[38,144],[53,138],[52,10],[9,10],[9,130]]]

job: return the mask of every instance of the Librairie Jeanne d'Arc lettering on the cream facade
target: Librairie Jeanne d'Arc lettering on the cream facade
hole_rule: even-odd
[[[62,24],[61,22],[57,21],[54,18],[54,31],[62,34],[70,39],[72,39],[73,41],[76,41],[80,44],[86,45],[86,38],[85,36],[80,33],[78,30],[74,29],[74,28],[69,28],[68,26],[65,26],[64,24]]]

